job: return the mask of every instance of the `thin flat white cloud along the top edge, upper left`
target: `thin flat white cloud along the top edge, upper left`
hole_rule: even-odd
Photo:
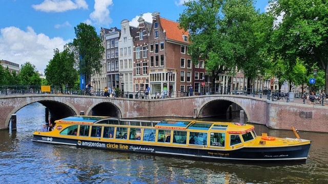
[[[41,4],[32,5],[32,8],[44,12],[65,12],[75,9],[88,9],[85,0],[45,0]]]

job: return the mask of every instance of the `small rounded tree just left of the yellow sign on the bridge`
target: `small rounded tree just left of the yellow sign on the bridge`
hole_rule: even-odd
[[[35,66],[30,62],[22,64],[20,72],[18,74],[20,78],[20,84],[23,85],[40,85],[41,79],[38,72],[35,70]]]

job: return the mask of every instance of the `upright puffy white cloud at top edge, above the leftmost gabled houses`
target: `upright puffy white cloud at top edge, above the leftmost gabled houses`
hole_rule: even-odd
[[[112,19],[109,16],[108,7],[113,5],[112,0],[95,0],[94,11],[90,14],[90,19],[97,25],[106,25],[112,23]]]

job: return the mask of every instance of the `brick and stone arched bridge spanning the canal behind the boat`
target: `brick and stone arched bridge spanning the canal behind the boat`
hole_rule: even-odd
[[[184,117],[204,118],[244,110],[247,122],[274,129],[328,132],[328,107],[273,102],[241,95],[210,95],[167,99],[127,99],[78,95],[26,94],[0,96],[0,129],[8,129],[11,114],[31,103],[43,104],[52,120],[86,115],[117,118]],[[239,114],[238,114],[239,116]],[[17,122],[19,123],[19,122]]]

